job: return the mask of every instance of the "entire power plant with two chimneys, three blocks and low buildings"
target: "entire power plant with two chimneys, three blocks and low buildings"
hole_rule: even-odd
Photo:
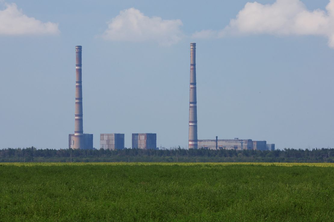
[[[93,134],[83,133],[82,115],[82,47],[75,46],[75,117],[74,134],[68,135],[68,148],[93,149]],[[124,149],[124,134],[100,134],[100,149]],[[156,133],[133,133],[132,148],[157,149]],[[197,98],[196,98],[196,43],[190,43],[190,94],[189,94],[189,149],[234,149],[234,150],[275,150],[275,144],[251,139],[197,139]]]

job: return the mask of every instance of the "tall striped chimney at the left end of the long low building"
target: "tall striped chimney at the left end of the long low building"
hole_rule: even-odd
[[[197,149],[196,43],[190,43],[189,149]]]

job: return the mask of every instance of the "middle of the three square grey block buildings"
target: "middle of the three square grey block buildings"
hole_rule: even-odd
[[[100,134],[100,148],[105,150],[124,149],[124,134],[122,133],[102,133]]]

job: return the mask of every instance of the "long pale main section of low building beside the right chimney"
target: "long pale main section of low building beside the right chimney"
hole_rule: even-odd
[[[253,149],[253,141],[251,139],[241,140],[198,140],[198,148],[204,149],[226,149],[226,150],[251,150]]]

